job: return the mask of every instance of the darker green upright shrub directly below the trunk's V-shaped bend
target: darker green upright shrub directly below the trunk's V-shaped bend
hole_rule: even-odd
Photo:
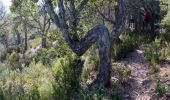
[[[55,97],[59,99],[66,99],[65,96],[74,98],[75,93],[78,93],[80,87],[80,76],[83,68],[83,61],[73,58],[71,55],[60,58],[54,62],[52,70],[54,72]],[[68,98],[67,98],[68,99]]]

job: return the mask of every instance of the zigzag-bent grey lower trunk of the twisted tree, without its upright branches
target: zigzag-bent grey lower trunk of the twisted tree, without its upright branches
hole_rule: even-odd
[[[104,25],[97,25],[88,31],[84,38],[78,42],[72,41],[69,46],[74,53],[82,56],[95,42],[97,42],[99,47],[99,74],[93,84],[104,84],[107,86],[110,83],[111,77],[111,42],[108,29]]]

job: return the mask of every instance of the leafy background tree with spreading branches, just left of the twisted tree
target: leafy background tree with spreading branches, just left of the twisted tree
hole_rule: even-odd
[[[48,14],[44,12],[42,4],[34,4],[34,1],[31,0],[13,0],[11,11],[25,17],[26,27],[35,29],[41,35],[41,45],[43,48],[46,48],[46,34],[48,33],[51,26],[51,19]],[[18,10],[19,9],[19,10]]]

